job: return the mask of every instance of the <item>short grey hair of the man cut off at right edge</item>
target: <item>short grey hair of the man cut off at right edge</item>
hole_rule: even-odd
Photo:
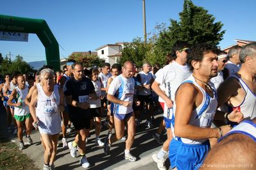
[[[241,63],[244,63],[245,58],[247,56],[250,56],[250,57],[256,56],[256,42],[249,43],[242,47],[241,52],[239,54],[239,59]]]

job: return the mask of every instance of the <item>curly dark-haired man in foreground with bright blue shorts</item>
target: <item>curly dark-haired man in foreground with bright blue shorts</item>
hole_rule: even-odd
[[[192,75],[176,90],[169,144],[169,160],[174,169],[199,169],[210,150],[210,138],[219,138],[229,125],[210,128],[218,106],[210,78],[218,73],[217,48],[207,43],[193,45],[187,54]]]

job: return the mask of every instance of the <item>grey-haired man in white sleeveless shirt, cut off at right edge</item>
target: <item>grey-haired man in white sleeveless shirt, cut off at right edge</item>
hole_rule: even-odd
[[[218,105],[226,104],[233,107],[233,111],[237,111],[237,114],[243,114],[246,120],[252,120],[256,117],[255,56],[256,43],[244,45],[239,53],[239,59],[242,63],[240,70],[228,77],[218,88]],[[223,112],[218,113],[218,118],[224,118],[223,115]],[[234,117],[226,113],[225,118],[230,120]]]

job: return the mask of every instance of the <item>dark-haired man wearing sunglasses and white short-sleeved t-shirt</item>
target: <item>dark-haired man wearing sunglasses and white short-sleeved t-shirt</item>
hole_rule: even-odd
[[[157,162],[158,169],[166,169],[164,165],[164,155],[169,151],[169,143],[173,139],[171,132],[171,118],[173,115],[173,101],[175,100],[175,92],[178,86],[191,75],[189,67],[185,63],[187,59],[187,53],[189,51],[189,45],[187,42],[178,41],[173,45],[170,56],[168,56],[168,65],[164,68],[158,70],[155,74],[156,78],[152,84],[152,89],[159,95],[159,98],[162,97],[164,103],[162,103],[164,110],[164,126],[167,131],[167,139],[164,141],[162,148],[158,151],[157,154],[153,154],[152,158]],[[162,91],[161,86],[165,86],[165,91]],[[160,124],[159,128],[162,128]],[[153,138],[157,141],[160,141],[160,134],[156,132],[153,134]],[[159,142],[158,142],[159,143]]]

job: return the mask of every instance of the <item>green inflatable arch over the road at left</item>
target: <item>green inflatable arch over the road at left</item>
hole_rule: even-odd
[[[46,48],[46,63],[60,70],[58,42],[45,20],[0,15],[0,31],[35,33]]]

